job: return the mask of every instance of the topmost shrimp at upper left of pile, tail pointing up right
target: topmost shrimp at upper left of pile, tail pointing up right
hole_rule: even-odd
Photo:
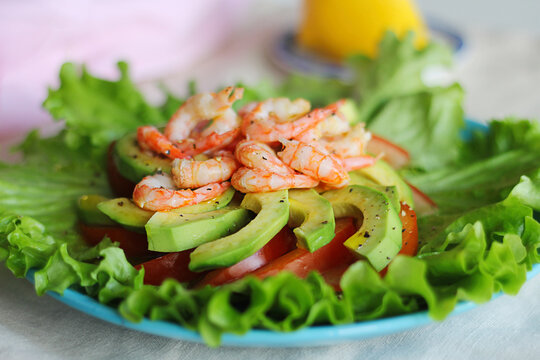
[[[243,94],[243,88],[229,86],[217,94],[193,95],[173,114],[165,127],[165,136],[171,141],[181,141],[189,137],[200,121],[230,116],[228,110]]]

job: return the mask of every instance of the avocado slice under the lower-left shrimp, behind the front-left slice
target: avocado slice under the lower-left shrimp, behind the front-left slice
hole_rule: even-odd
[[[175,210],[171,210],[171,213],[181,214],[197,214],[207,211],[221,209],[227,206],[234,197],[234,188],[228,188],[220,196],[201,202],[196,205],[184,206]],[[103,201],[97,205],[99,210],[109,218],[117,222],[118,224],[134,231],[144,231],[144,225],[154,215],[154,211],[143,210],[135,205],[128,198],[116,198],[107,201]]]

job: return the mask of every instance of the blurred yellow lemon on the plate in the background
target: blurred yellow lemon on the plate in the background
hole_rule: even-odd
[[[398,37],[414,31],[418,47],[428,40],[413,0],[304,0],[297,40],[302,47],[337,60],[357,53],[373,57],[386,30]]]

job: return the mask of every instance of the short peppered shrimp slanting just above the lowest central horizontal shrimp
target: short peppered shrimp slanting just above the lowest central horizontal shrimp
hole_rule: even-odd
[[[279,175],[294,174],[294,170],[281,161],[272,148],[253,140],[242,140],[236,146],[236,159],[251,169],[260,169]]]

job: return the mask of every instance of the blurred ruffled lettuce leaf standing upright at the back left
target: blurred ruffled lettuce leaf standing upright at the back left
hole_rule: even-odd
[[[49,89],[43,107],[64,120],[70,148],[89,147],[103,153],[109,143],[140,125],[159,125],[168,120],[149,105],[128,75],[128,65],[118,63],[120,79],[94,77],[72,63],[60,69],[60,86]]]

